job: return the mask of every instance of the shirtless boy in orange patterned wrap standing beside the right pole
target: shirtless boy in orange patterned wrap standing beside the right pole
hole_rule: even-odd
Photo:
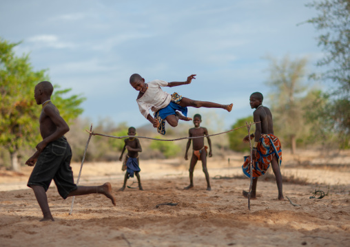
[[[254,122],[256,123],[255,133],[250,136],[245,136],[243,142],[249,142],[249,138],[255,138],[253,145],[253,184],[251,186],[251,199],[256,199],[256,184],[258,177],[264,175],[271,163],[272,170],[276,177],[276,183],[278,188],[278,200],[284,200],[282,193],[282,175],[280,174],[280,164],[282,162],[282,148],[280,140],[274,136],[274,126],[272,122],[272,114],[269,108],[263,106],[263,94],[255,92],[250,96],[251,109],[254,111]],[[243,164],[243,173],[250,178],[249,173],[250,156],[245,157],[245,163]],[[243,195],[248,197],[248,192],[243,191]]]

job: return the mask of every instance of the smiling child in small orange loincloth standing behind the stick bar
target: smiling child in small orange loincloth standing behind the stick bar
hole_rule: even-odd
[[[189,129],[189,137],[203,136],[202,138],[193,138],[189,139],[186,146],[185,160],[187,158],[187,152],[189,146],[191,146],[191,140],[193,140],[193,153],[191,158],[191,163],[189,164],[189,186],[184,189],[193,188],[193,171],[194,167],[197,164],[198,160],[202,160],[203,172],[205,174],[205,179],[207,180],[207,191],[211,191],[209,183],[209,173],[207,170],[207,146],[204,145],[204,136],[207,136],[208,144],[209,144],[209,157],[212,157],[212,142],[208,136],[207,128],[200,127],[200,122],[202,122],[202,117],[199,114],[194,115],[193,123],[194,128]]]

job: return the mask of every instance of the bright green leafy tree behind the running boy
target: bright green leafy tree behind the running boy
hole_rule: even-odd
[[[33,95],[35,85],[48,80],[48,75],[45,69],[33,70],[28,54],[15,56],[13,48],[16,45],[19,43],[0,39],[0,145],[10,153],[12,169],[19,171],[17,158],[21,147],[35,147],[40,141],[40,107]],[[84,100],[76,95],[63,99],[61,96],[69,91],[56,91],[52,95],[52,101],[60,107],[67,121],[81,114],[83,109],[79,105]]]

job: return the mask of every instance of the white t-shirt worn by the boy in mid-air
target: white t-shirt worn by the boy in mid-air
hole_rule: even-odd
[[[166,81],[152,80],[147,84],[148,88],[145,94],[136,100],[138,109],[140,109],[141,114],[145,118],[150,114],[150,109],[154,112],[159,111],[167,107],[172,100],[172,96],[161,89],[161,87],[167,86],[168,83]]]

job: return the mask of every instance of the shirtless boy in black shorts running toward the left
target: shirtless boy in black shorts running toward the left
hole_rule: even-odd
[[[109,182],[100,186],[76,186],[74,184],[73,172],[70,167],[72,150],[67,139],[63,136],[70,128],[50,100],[53,90],[52,84],[48,81],[42,81],[35,86],[34,98],[37,105],[43,106],[39,118],[43,140],[37,144],[37,151],[34,155],[25,162],[30,167],[35,164],[28,186],[33,189],[43,212],[41,222],[50,220],[54,222],[46,195],[52,179],[63,199],[74,195],[99,193],[110,198],[112,204],[116,206]]]

